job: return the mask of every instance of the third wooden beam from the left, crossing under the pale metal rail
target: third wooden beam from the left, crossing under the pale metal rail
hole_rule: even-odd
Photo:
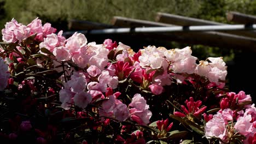
[[[157,22],[169,23],[169,24],[178,25],[178,26],[228,25],[226,23],[207,21],[207,20],[196,19],[193,17],[186,17],[186,16],[180,16],[180,15],[166,14],[166,13],[158,13],[155,17],[155,20]],[[247,31],[247,32],[232,31],[232,32],[225,32],[225,33],[256,38],[256,32],[253,32],[253,31]]]

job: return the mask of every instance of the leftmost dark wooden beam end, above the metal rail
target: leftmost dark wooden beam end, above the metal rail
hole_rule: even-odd
[[[70,20],[68,22],[68,28],[75,31],[84,31],[91,29],[103,29],[103,28],[113,28],[112,25],[107,25],[104,23],[91,22],[91,21],[80,21],[80,20]]]

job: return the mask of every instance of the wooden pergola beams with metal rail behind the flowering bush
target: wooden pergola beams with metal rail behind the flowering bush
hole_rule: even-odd
[[[253,26],[256,17],[252,15],[241,14],[237,12],[227,13],[227,19],[232,22],[242,23],[248,27]],[[201,44],[207,46],[217,46],[228,49],[240,49],[243,51],[256,51],[256,31],[253,29],[243,29],[246,31],[241,31],[241,29],[232,29],[232,31],[225,31],[225,27],[232,27],[234,25],[229,25],[227,23],[219,23],[214,21],[207,21],[201,19],[195,19],[192,17],[185,17],[180,15],[157,13],[155,21],[137,20],[127,17],[114,16],[112,19],[112,25],[107,25],[104,23],[96,23],[90,21],[69,21],[69,29],[71,32],[65,33],[70,35],[73,31],[80,31],[87,35],[94,35],[96,29],[106,29],[106,28],[130,28],[131,37],[136,39],[145,38],[148,39],[160,39],[162,41],[177,41],[179,43],[186,44]],[[132,31],[134,28],[141,27],[177,27],[183,26],[184,31],[173,31],[173,32],[161,32],[161,33],[135,33]],[[210,26],[222,28],[221,31],[186,31],[186,28],[193,26]],[[101,31],[97,31],[98,33]],[[102,31],[102,35],[126,35],[123,33],[105,33]]]

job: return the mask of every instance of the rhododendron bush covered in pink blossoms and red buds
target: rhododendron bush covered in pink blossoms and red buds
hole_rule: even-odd
[[[256,143],[255,105],[225,87],[222,57],[89,43],[39,19],[2,34],[3,143]]]

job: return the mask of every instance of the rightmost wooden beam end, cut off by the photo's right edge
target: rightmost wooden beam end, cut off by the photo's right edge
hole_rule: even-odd
[[[256,23],[256,16],[242,14],[235,11],[229,11],[228,13],[226,13],[226,19],[228,21],[242,23],[242,24]]]

